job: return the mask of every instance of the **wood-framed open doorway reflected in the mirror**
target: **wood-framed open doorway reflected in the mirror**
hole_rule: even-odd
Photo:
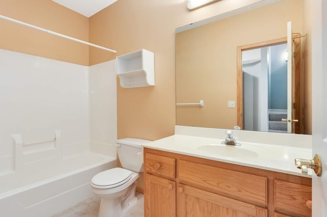
[[[302,37],[306,36],[293,34],[291,40],[290,83],[286,38],[238,47],[238,79],[241,81],[238,96],[242,105],[238,110],[238,125],[241,128],[302,133],[302,106],[299,106],[303,99]],[[288,98],[288,92],[292,97]],[[288,129],[289,110],[292,123]]]

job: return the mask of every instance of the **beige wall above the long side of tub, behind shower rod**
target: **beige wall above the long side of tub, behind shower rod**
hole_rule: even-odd
[[[0,0],[0,14],[88,41],[88,18],[51,0]],[[0,49],[88,66],[88,46],[0,19]]]

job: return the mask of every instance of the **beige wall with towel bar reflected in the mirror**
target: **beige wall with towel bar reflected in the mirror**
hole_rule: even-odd
[[[307,37],[300,39],[303,50],[301,68],[303,122],[302,131],[296,133],[311,134],[311,27],[308,24],[311,19],[310,4],[307,0],[282,0],[229,17],[224,14],[227,18],[217,18],[216,21],[206,22],[196,28],[185,30],[183,26],[179,28],[182,31],[177,29],[176,103],[203,100],[204,106],[177,105],[176,124],[225,129],[242,125],[238,117],[238,110],[242,108],[243,111],[244,107],[243,100],[241,102],[238,100],[243,97],[238,93],[238,89],[243,86],[243,81],[241,84],[238,82],[237,56],[240,55],[238,48],[286,39],[287,22],[292,21],[293,32],[308,33]],[[266,45],[258,47],[262,46]],[[240,53],[242,55],[242,52]],[[260,92],[253,90],[253,94],[259,95]],[[286,97],[284,93],[278,95],[279,101],[285,100],[282,99]],[[267,95],[265,100],[268,99]],[[235,107],[228,107],[229,101],[235,102]],[[268,117],[268,110],[266,116]],[[241,117],[242,121],[243,118]],[[269,119],[266,119],[266,123],[268,121]],[[267,131],[269,125],[266,126],[265,130],[260,128],[252,130]]]

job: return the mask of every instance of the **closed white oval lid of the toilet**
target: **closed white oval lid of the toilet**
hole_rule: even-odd
[[[91,183],[99,188],[112,188],[126,183],[132,172],[123,168],[113,168],[95,175]]]

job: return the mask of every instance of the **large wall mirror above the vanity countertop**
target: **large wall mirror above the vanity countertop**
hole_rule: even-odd
[[[282,119],[291,88],[293,111],[300,111],[292,132],[311,134],[310,4],[282,0],[178,28],[176,125],[287,132]],[[293,78],[299,78],[292,87],[285,58],[289,21],[297,47]]]

